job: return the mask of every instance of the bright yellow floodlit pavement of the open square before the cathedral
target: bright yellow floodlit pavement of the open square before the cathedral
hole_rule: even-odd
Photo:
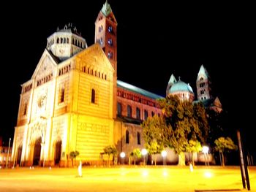
[[[117,166],[78,169],[0,169],[0,191],[195,191],[243,190],[239,166]],[[249,168],[251,191],[256,191],[256,167]]]

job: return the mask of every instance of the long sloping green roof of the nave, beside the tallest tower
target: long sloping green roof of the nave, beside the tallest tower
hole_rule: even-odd
[[[163,98],[162,96],[159,96],[157,94],[151,93],[149,91],[143,90],[142,88],[135,87],[134,85],[128,84],[127,82],[123,82],[121,80],[117,80],[117,86],[119,88],[127,89],[128,91],[132,91],[135,93],[139,93],[143,96],[147,96],[151,99],[160,99]]]

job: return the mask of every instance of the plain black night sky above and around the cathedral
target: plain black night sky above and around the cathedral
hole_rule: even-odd
[[[1,12],[0,135],[5,143],[13,138],[20,84],[31,79],[47,37],[58,26],[73,23],[87,44],[94,44],[94,22],[105,0],[70,2],[22,1],[2,7],[7,11]],[[255,21],[250,5],[108,2],[118,22],[118,80],[165,96],[173,73],[196,93],[195,81],[203,64],[229,114],[230,126],[242,128],[246,142],[252,144]]]

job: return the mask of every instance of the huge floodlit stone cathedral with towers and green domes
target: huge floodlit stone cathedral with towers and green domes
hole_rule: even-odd
[[[161,115],[156,99],[162,96],[117,80],[116,29],[106,1],[95,21],[94,45],[88,46],[71,23],[48,37],[34,74],[21,85],[12,146],[15,164],[71,166],[69,153],[77,150],[80,161],[96,165],[108,145],[127,156],[143,149],[140,123]],[[197,100],[221,110],[210,85],[201,66]],[[190,101],[195,97],[190,85],[173,74],[166,92]]]

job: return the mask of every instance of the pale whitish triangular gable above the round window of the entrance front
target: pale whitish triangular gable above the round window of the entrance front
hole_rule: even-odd
[[[34,74],[32,75],[31,79],[42,77],[45,74],[53,73],[53,71],[56,69],[56,66],[56,61],[53,60],[51,55],[48,53],[48,50],[45,50],[44,53],[42,53],[42,56],[37,64],[36,69],[34,70]]]

